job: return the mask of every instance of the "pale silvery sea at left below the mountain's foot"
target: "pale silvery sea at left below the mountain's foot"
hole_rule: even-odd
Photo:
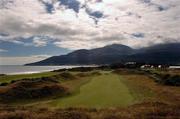
[[[75,67],[89,67],[86,65],[79,66],[21,66],[21,65],[0,65],[0,74],[32,74],[48,72],[57,69],[70,69]]]

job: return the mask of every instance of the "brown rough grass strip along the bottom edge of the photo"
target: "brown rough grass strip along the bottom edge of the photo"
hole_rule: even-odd
[[[1,107],[1,119],[179,119],[180,107],[144,102],[128,108],[27,108]]]

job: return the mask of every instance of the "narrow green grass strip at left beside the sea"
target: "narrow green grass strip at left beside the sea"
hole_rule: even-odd
[[[19,74],[19,75],[5,75],[0,76],[0,83],[9,83],[12,80],[19,80],[23,78],[40,78],[46,76],[52,76],[57,74],[57,72],[43,72],[43,73],[34,73],[34,74]]]

